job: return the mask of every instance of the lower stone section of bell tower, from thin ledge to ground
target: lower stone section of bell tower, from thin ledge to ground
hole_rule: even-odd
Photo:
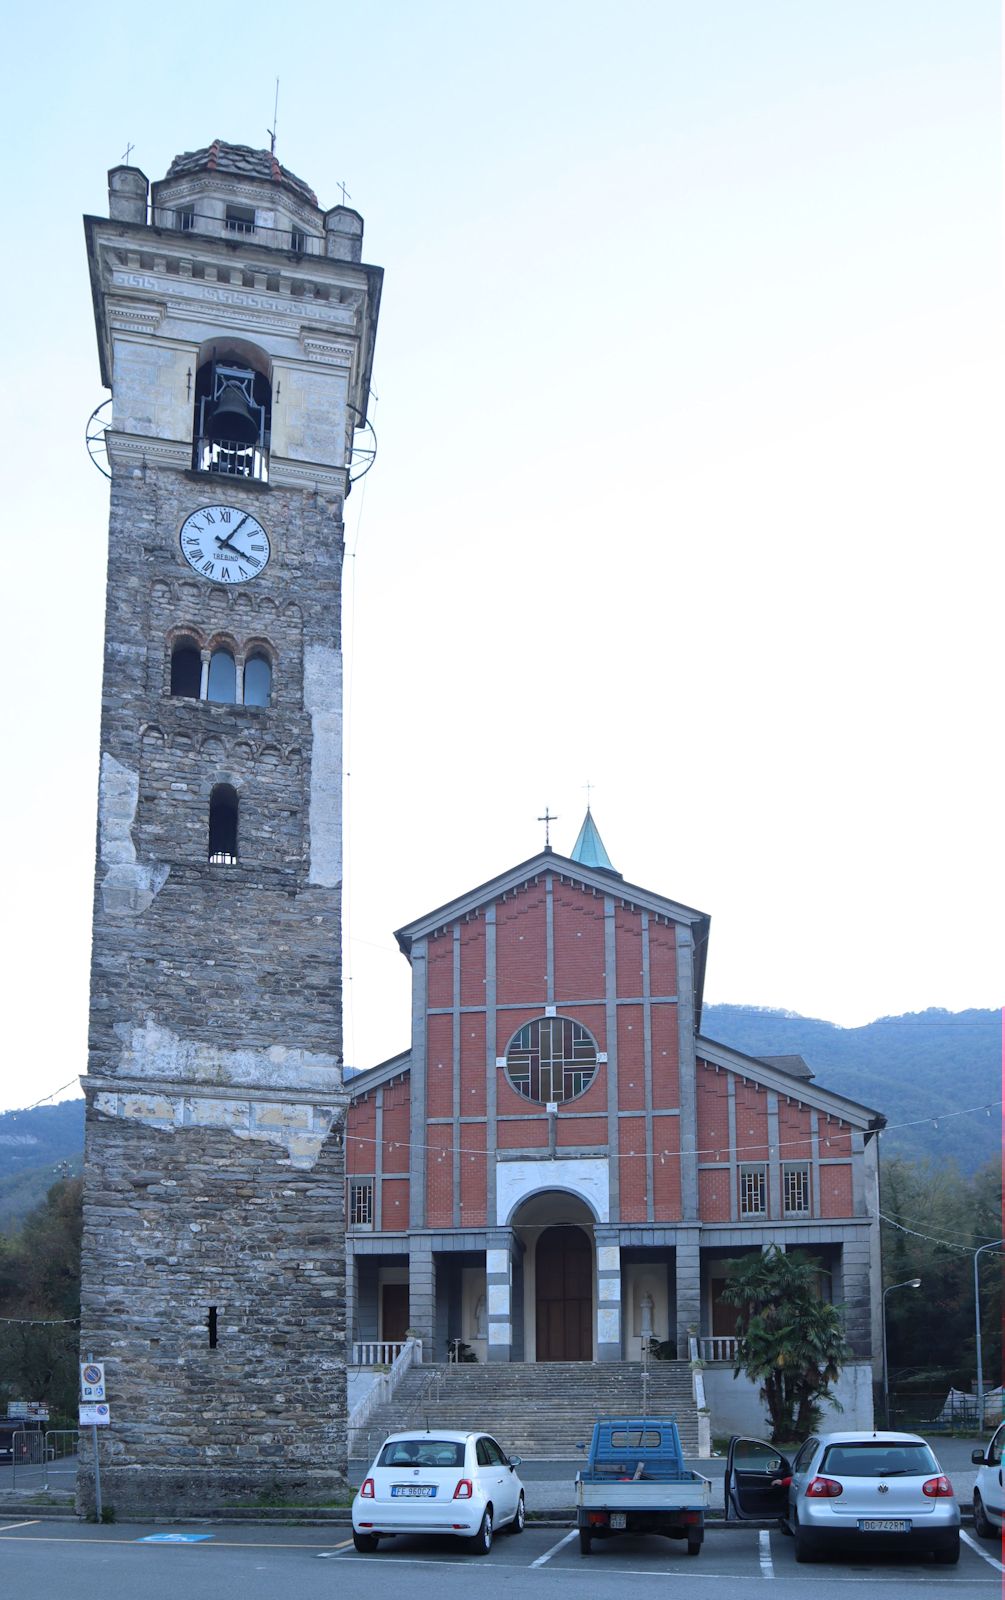
[[[219,1053],[218,1053],[219,1054]],[[195,1051],[189,1050],[189,1061]],[[82,1358],[106,1514],[317,1504],[346,1485],[341,1086],[85,1078]],[[78,1510],[94,1510],[91,1432]]]

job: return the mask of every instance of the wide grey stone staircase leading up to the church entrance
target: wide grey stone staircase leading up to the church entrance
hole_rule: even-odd
[[[685,1456],[698,1454],[698,1413],[687,1362],[648,1368],[650,1416],[677,1416]],[[411,1427],[485,1430],[509,1454],[575,1461],[599,1416],[640,1416],[640,1362],[490,1362],[413,1366],[366,1422],[354,1458],[373,1459],[381,1440]]]

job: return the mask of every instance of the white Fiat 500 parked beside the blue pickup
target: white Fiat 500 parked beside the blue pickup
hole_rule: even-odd
[[[496,1528],[523,1531],[519,1466],[490,1434],[390,1434],[352,1502],[352,1542],[370,1552],[395,1533],[446,1533],[485,1555]]]

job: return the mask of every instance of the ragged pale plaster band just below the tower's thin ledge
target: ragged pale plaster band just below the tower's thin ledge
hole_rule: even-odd
[[[328,1106],[277,1104],[274,1101],[203,1099],[198,1094],[141,1094],[99,1091],[94,1110],[118,1122],[176,1133],[184,1128],[221,1128],[235,1139],[259,1139],[285,1149],[290,1165],[309,1171],[317,1165],[334,1123]]]

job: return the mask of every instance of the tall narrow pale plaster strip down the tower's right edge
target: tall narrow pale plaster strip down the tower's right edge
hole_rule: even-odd
[[[342,882],[342,656],[330,645],[307,645],[304,651],[304,706],[314,736],[307,880],[338,888]]]

